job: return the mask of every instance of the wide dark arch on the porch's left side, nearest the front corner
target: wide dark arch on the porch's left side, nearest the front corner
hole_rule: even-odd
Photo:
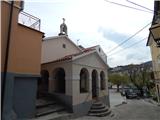
[[[63,68],[56,68],[54,70],[54,90],[57,93],[65,93],[65,71]]]

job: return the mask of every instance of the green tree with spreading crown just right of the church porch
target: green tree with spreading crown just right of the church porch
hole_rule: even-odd
[[[109,82],[117,85],[117,92],[119,92],[119,86],[122,84],[128,84],[128,76],[120,75],[117,73],[109,74]]]

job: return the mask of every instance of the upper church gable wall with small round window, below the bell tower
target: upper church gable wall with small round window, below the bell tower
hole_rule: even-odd
[[[64,46],[65,48],[63,48]],[[66,55],[78,53],[80,50],[65,36],[46,39],[42,42],[41,63],[51,62]]]

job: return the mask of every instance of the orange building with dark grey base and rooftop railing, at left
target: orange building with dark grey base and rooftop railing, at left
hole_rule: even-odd
[[[23,4],[23,1],[1,1],[3,120],[35,116],[44,33],[40,31],[40,19],[23,12]]]

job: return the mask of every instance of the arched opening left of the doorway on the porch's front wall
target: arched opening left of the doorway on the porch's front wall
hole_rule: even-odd
[[[88,92],[89,90],[89,73],[86,68],[82,68],[80,72],[80,93]]]

